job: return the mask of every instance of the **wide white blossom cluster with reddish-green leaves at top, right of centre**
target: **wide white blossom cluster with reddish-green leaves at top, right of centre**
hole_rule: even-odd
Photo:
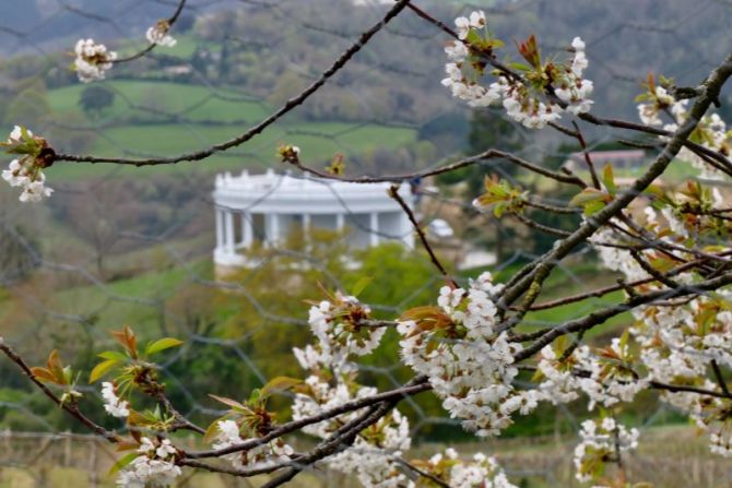
[[[456,20],[459,39],[445,48],[448,63],[445,66],[447,78],[442,80],[452,96],[468,102],[471,107],[500,102],[510,118],[532,129],[558,120],[564,111],[578,115],[590,110],[593,84],[582,76],[588,60],[581,38],[575,37],[571,43],[571,59],[542,63],[532,36],[520,46],[530,66],[516,64],[521,74],[495,70],[496,81],[485,86],[481,79],[486,74],[493,50],[503,46],[491,37],[486,25],[482,11]]]

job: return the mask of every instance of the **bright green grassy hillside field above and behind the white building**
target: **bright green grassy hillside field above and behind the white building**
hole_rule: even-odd
[[[272,112],[265,103],[250,102],[231,91],[178,83],[141,81],[106,82],[117,95],[114,106],[88,119],[78,106],[81,85],[51,90],[49,104],[57,117],[86,120],[91,134],[99,128],[86,153],[111,157],[173,156],[221,143],[245,132]],[[157,114],[153,114],[154,110]],[[173,121],[162,114],[176,114]],[[216,122],[216,123],[212,123]],[[280,144],[298,145],[310,164],[337,153],[363,154],[376,148],[395,150],[415,140],[415,131],[368,123],[304,122],[292,118],[270,127],[240,148],[214,155],[205,163],[184,163],[208,174],[221,170],[261,169],[278,165]],[[109,165],[56,165],[48,170],[55,181],[106,176],[146,177],[176,171],[178,167],[119,168]]]

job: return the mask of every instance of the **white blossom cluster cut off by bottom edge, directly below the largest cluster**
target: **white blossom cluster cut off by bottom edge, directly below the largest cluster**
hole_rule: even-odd
[[[457,451],[449,448],[427,462],[415,464],[453,488],[516,488],[496,460],[480,452],[471,461],[462,461]]]

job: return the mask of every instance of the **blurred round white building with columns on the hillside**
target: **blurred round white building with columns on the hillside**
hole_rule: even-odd
[[[343,230],[350,247],[363,249],[383,241],[414,247],[412,224],[388,194],[391,183],[350,183],[268,170],[263,175],[217,175],[213,200],[216,212],[217,269],[256,264],[247,250],[256,243],[278,248],[287,233],[310,228]],[[409,185],[400,195],[412,205]]]

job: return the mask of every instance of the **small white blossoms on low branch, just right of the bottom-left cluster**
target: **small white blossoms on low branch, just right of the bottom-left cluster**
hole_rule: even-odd
[[[217,435],[213,442],[213,449],[225,449],[244,442],[240,436],[240,427],[234,420],[220,420],[217,422]],[[275,439],[262,445],[244,452],[225,454],[222,459],[232,463],[235,468],[249,467],[252,469],[271,467],[275,464],[290,461],[294,454],[291,445],[282,439]]]

